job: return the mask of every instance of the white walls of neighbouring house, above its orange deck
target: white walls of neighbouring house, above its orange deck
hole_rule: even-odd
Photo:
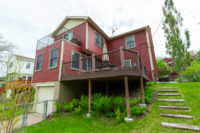
[[[34,59],[21,56],[13,55],[9,60],[7,74],[9,80],[32,80],[34,68]]]

